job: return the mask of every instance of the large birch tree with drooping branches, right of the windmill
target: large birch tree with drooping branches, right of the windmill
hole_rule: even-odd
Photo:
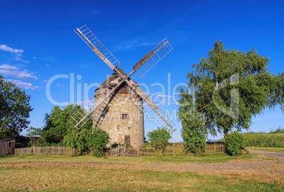
[[[254,49],[226,50],[223,42],[216,41],[208,58],[202,57],[199,64],[194,64],[195,71],[187,74],[188,88],[180,95],[184,99],[182,107],[189,104],[185,113],[198,112],[209,133],[226,136],[234,128],[249,128],[252,116],[266,107],[280,104],[283,109],[283,73],[269,73],[268,63]],[[194,121],[180,119],[182,124]]]

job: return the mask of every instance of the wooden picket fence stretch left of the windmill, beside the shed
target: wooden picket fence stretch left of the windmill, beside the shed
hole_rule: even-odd
[[[73,155],[75,150],[66,147],[48,146],[32,148],[16,148],[14,155]]]

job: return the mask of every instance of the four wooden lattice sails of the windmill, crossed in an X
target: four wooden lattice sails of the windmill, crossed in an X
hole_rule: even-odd
[[[87,25],[77,28],[75,32],[88,45],[88,47],[90,47],[90,49],[92,49],[93,52],[95,52],[95,54],[97,54],[97,56],[99,56],[100,59],[102,59],[102,61],[104,61],[105,64],[112,69],[112,71],[114,71],[114,74],[111,76],[112,79],[110,78],[107,81],[110,82],[115,78],[118,78],[119,80],[117,80],[117,83],[112,86],[105,83],[105,86],[109,86],[109,88],[106,89],[103,96],[100,97],[100,100],[96,100],[96,102],[94,102],[95,95],[93,95],[90,100],[81,106],[83,109],[85,109],[85,112],[82,112],[81,110],[81,113],[75,112],[73,116],[71,116],[71,118],[75,121],[74,127],[81,128],[81,126],[83,126],[90,119],[93,120],[94,126],[100,125],[102,119],[104,118],[104,114],[107,112],[107,106],[110,104],[110,101],[114,99],[117,90],[121,88],[122,85],[127,85],[131,89],[131,92],[133,93],[131,100],[134,102],[134,104],[139,101],[146,102],[148,106],[153,109],[158,116],[160,116],[160,119],[162,119],[164,124],[167,124],[167,126],[170,126],[170,128],[174,126],[174,123],[171,121],[171,119],[169,119],[166,114],[163,113],[162,110],[155,104],[155,102],[153,102],[150,97],[148,97],[148,95],[141,90],[138,84],[130,78],[134,73],[138,73],[140,77],[145,75],[150,68],[155,66],[155,64],[157,64],[173,49],[167,39],[162,40],[162,42],[150,50],[146,56],[144,56],[133,66],[133,70],[127,75],[124,73],[124,71],[122,71],[121,68],[117,67],[121,65],[118,59],[105,47],[105,45],[102,44],[102,42],[100,42],[100,40],[97,39]],[[135,100],[133,99],[134,97],[136,98]],[[138,107],[143,113],[143,104],[136,104],[136,107]],[[156,121],[153,122],[157,124]],[[157,126],[163,125],[158,124]]]

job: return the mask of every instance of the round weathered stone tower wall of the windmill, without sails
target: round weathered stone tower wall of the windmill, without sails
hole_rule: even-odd
[[[97,90],[97,93],[99,92],[102,93],[102,90]],[[133,92],[127,92],[117,92],[108,104],[108,110],[100,128],[110,135],[109,145],[127,142],[132,147],[139,148],[144,143],[143,102],[138,97],[134,97]],[[96,94],[95,100],[99,101],[104,95]],[[135,98],[138,107],[131,101],[131,97]]]

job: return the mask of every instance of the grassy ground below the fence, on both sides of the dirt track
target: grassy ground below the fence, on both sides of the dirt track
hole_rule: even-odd
[[[281,184],[241,176],[155,170],[155,166],[196,164],[202,167],[218,162],[254,162],[261,158],[252,154],[239,157],[5,157],[0,158],[0,186],[1,191],[284,191]]]

